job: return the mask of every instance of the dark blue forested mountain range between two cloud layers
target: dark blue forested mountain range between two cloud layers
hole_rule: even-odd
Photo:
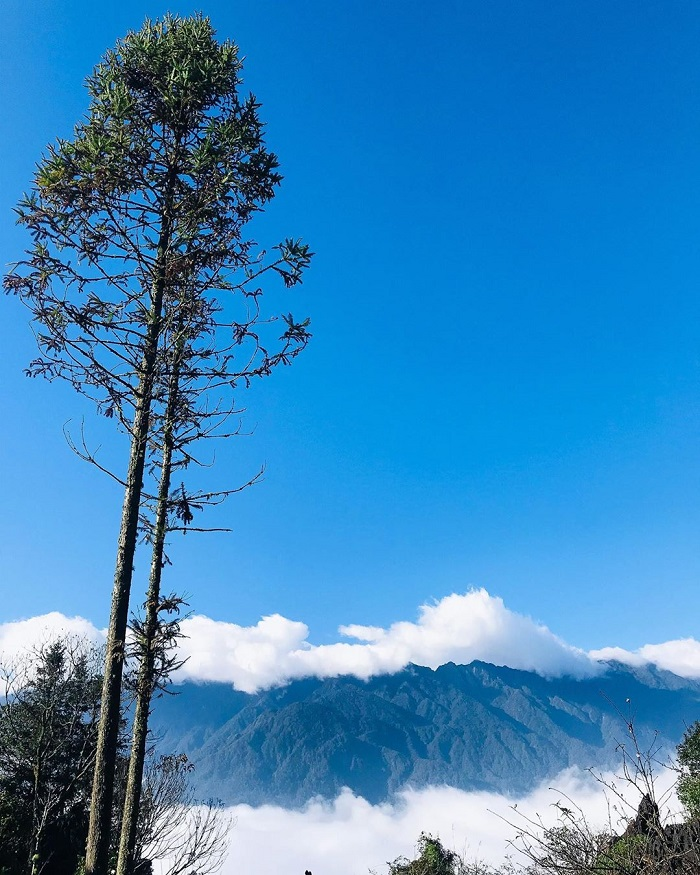
[[[545,678],[483,662],[411,665],[361,681],[315,678],[255,695],[184,684],[158,700],[159,749],[195,764],[202,798],[303,805],[349,787],[368,801],[405,785],[525,793],[568,766],[619,764],[629,722],[671,749],[700,718],[700,684],[609,663]]]

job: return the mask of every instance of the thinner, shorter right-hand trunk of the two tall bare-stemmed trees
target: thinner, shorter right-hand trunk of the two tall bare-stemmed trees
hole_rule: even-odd
[[[150,716],[151,697],[155,683],[160,582],[163,572],[165,535],[168,526],[168,496],[170,494],[170,478],[172,474],[173,426],[177,405],[181,352],[182,342],[178,339],[168,386],[168,401],[163,430],[163,458],[160,469],[160,483],[158,485],[151,572],[148,581],[148,594],[146,596],[146,617],[143,625],[143,641],[141,642],[141,664],[136,684],[136,710],[131,736],[131,756],[129,759],[124,811],[119,836],[117,875],[131,875],[134,868],[143,766],[146,757],[148,718]]]

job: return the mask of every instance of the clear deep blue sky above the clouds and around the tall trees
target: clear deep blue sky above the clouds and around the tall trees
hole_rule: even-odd
[[[166,586],[314,640],[485,586],[584,647],[697,635],[700,6],[695,0],[3,0],[0,251],[84,77],[146,15],[202,9],[246,56],[285,182],[256,236],[317,252],[313,341],[241,402],[212,482],[230,535]],[[0,621],[106,621],[121,497],[0,319]],[[145,557],[137,565],[143,588]]]

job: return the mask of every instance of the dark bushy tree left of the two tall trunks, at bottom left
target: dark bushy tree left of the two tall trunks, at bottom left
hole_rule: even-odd
[[[69,875],[84,850],[101,676],[89,647],[59,640],[0,668],[0,860]]]

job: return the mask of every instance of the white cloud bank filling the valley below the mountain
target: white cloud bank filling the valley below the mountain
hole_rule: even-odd
[[[662,775],[659,786],[665,780]],[[593,827],[603,828],[608,823],[609,809],[601,785],[577,769],[563,772],[517,800],[495,793],[429,787],[407,789],[394,803],[375,806],[348,790],[332,802],[316,800],[300,811],[237,805],[229,809],[235,826],[221,872],[301,875],[309,869],[315,875],[367,875],[374,869],[382,875],[388,861],[400,855],[415,856],[415,843],[422,831],[439,836],[447,847],[467,858],[478,857],[495,865],[512,853],[507,842],[516,830],[506,820],[522,824],[519,816],[540,814],[547,825],[553,825],[553,803],[565,798],[567,805],[573,799],[585,811]],[[638,796],[630,796],[631,807],[624,817],[633,814],[638,801]],[[613,826],[618,829],[620,824]]]

